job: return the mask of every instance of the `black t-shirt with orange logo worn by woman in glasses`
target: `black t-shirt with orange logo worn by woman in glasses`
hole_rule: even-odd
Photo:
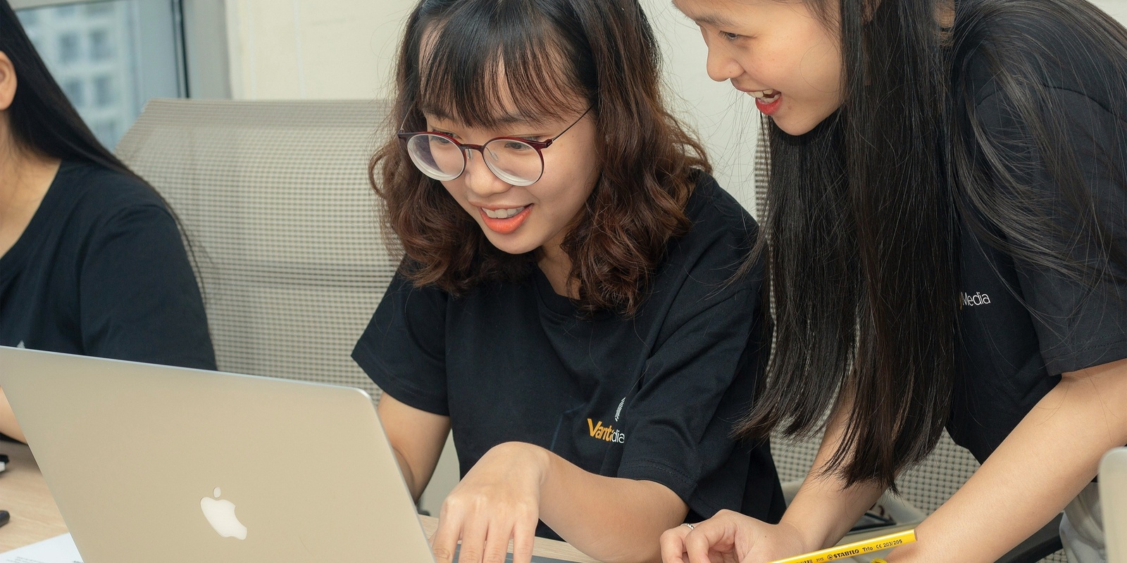
[[[762,272],[731,283],[754,220],[701,173],[641,310],[583,319],[539,268],[453,298],[397,275],[353,351],[397,400],[450,417],[461,473],[505,441],[600,475],[668,486],[687,520],[778,521],[769,447],[735,443],[760,361]],[[538,535],[556,537],[541,524]]]

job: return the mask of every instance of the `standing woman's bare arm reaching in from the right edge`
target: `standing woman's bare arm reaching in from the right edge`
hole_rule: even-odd
[[[1115,370],[1063,378],[888,561],[995,561],[1051,520],[1127,444],[1127,376]]]

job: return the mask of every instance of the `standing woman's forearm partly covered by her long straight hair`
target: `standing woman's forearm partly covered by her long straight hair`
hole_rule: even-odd
[[[867,483],[845,489],[836,474],[825,471],[841,444],[849,411],[848,405],[840,408],[827,421],[814,465],[780,522],[793,527],[808,551],[836,544],[884,492],[884,488]]]

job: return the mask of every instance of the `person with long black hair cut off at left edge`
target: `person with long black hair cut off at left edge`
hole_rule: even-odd
[[[0,346],[215,369],[175,215],[94,137],[7,0]],[[0,434],[24,438],[2,391]]]

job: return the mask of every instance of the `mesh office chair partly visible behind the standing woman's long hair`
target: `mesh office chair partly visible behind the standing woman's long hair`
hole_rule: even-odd
[[[767,127],[764,124],[760,127],[755,149],[755,211],[756,217],[761,220],[766,216],[770,164],[770,142],[767,141]],[[800,441],[791,441],[780,436],[773,437],[771,453],[774,457],[775,468],[779,471],[779,479],[783,483],[790,484],[788,489],[793,490],[806,476],[820,443],[820,434],[811,439]],[[955,494],[977,470],[978,461],[966,448],[955,444],[944,430],[934,452],[922,464],[904,472],[896,480],[902,497],[890,500],[891,502],[906,502],[909,511],[930,515]],[[886,500],[889,500],[887,495],[881,501]],[[1000,520],[1004,518],[1005,515],[999,515]],[[1061,548],[1061,537],[1057,533],[1061,517],[1057,516],[1054,521],[1000,558],[999,563],[1033,563],[1038,561],[1067,563],[1068,560]]]

